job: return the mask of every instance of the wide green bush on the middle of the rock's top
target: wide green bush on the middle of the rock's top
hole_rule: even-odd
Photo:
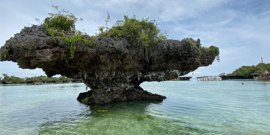
[[[134,15],[132,18],[124,16],[124,20],[117,20],[112,27],[108,27],[110,15],[107,13],[105,26],[98,27],[97,37],[127,38],[133,46],[147,47],[168,39],[166,32],[161,33],[158,28],[159,23],[149,20],[149,17],[138,20]]]

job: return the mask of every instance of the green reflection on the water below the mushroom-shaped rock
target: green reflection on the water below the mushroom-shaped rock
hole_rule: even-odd
[[[219,132],[192,127],[181,119],[162,114],[151,115],[149,109],[162,106],[162,101],[138,100],[89,106],[89,113],[76,119],[42,123],[39,134],[182,134]],[[65,117],[65,116],[64,116]],[[74,116],[73,116],[74,117]],[[185,118],[182,118],[185,119]]]

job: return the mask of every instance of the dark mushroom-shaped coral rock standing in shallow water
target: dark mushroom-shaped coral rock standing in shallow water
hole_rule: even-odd
[[[70,58],[66,42],[55,42],[44,25],[33,25],[7,40],[0,54],[1,61],[16,62],[23,69],[42,68],[48,77],[60,74],[81,78],[91,90],[80,93],[77,99],[86,104],[107,104],[165,99],[139,85],[177,78],[212,64],[219,54],[217,47],[201,47],[199,39],[191,41],[166,40],[142,48],[131,46],[125,38],[101,37],[93,46],[77,42],[74,58]]]

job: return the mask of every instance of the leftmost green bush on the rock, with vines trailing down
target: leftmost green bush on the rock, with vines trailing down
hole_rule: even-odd
[[[74,14],[70,13],[67,10],[58,9],[58,6],[52,5],[53,8],[57,10],[57,13],[48,13],[49,17],[46,17],[44,20],[44,25],[48,35],[50,35],[55,43],[57,43],[57,38],[63,39],[70,46],[70,58],[74,57],[74,54],[77,50],[76,43],[84,42],[85,45],[93,45],[93,40],[86,33],[81,31],[76,31],[75,23],[82,22],[82,18],[75,17]],[[36,19],[39,20],[39,19]],[[67,37],[65,32],[71,33],[73,35]]]

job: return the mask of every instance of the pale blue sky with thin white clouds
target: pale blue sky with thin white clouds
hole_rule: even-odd
[[[231,73],[243,65],[270,63],[270,1],[268,0],[9,0],[0,1],[0,46],[20,32],[24,26],[38,24],[47,13],[59,6],[82,17],[77,30],[94,35],[104,24],[107,12],[110,25],[124,15],[150,17],[159,22],[159,29],[169,39],[200,38],[202,46],[214,45],[220,49],[220,62],[200,67],[188,76]],[[45,75],[42,69],[21,69],[16,63],[0,62],[0,74],[31,77]]]

